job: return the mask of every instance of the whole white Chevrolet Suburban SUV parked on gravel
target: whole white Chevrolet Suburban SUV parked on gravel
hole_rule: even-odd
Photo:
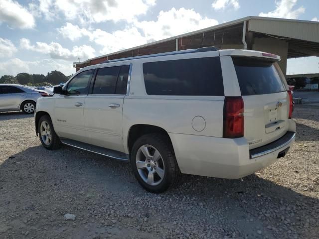
[[[208,47],[88,66],[37,101],[36,133],[46,149],[63,143],[129,161],[153,193],[181,173],[241,178],[295,140],[279,60]]]

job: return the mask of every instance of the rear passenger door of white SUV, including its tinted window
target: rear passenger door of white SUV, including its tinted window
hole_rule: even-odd
[[[123,151],[122,109],[130,65],[98,68],[92,94],[85,100],[87,143]]]

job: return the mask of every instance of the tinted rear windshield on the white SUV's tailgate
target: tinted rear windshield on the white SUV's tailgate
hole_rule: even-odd
[[[242,96],[286,91],[276,62],[265,59],[233,57]]]

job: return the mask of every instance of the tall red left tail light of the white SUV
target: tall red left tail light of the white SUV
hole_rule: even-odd
[[[244,101],[242,97],[225,97],[223,137],[244,136]]]

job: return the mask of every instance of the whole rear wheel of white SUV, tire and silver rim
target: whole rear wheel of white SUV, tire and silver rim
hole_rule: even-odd
[[[162,193],[174,187],[181,176],[173,147],[163,134],[152,133],[138,138],[131,151],[130,163],[140,185],[151,193]]]

